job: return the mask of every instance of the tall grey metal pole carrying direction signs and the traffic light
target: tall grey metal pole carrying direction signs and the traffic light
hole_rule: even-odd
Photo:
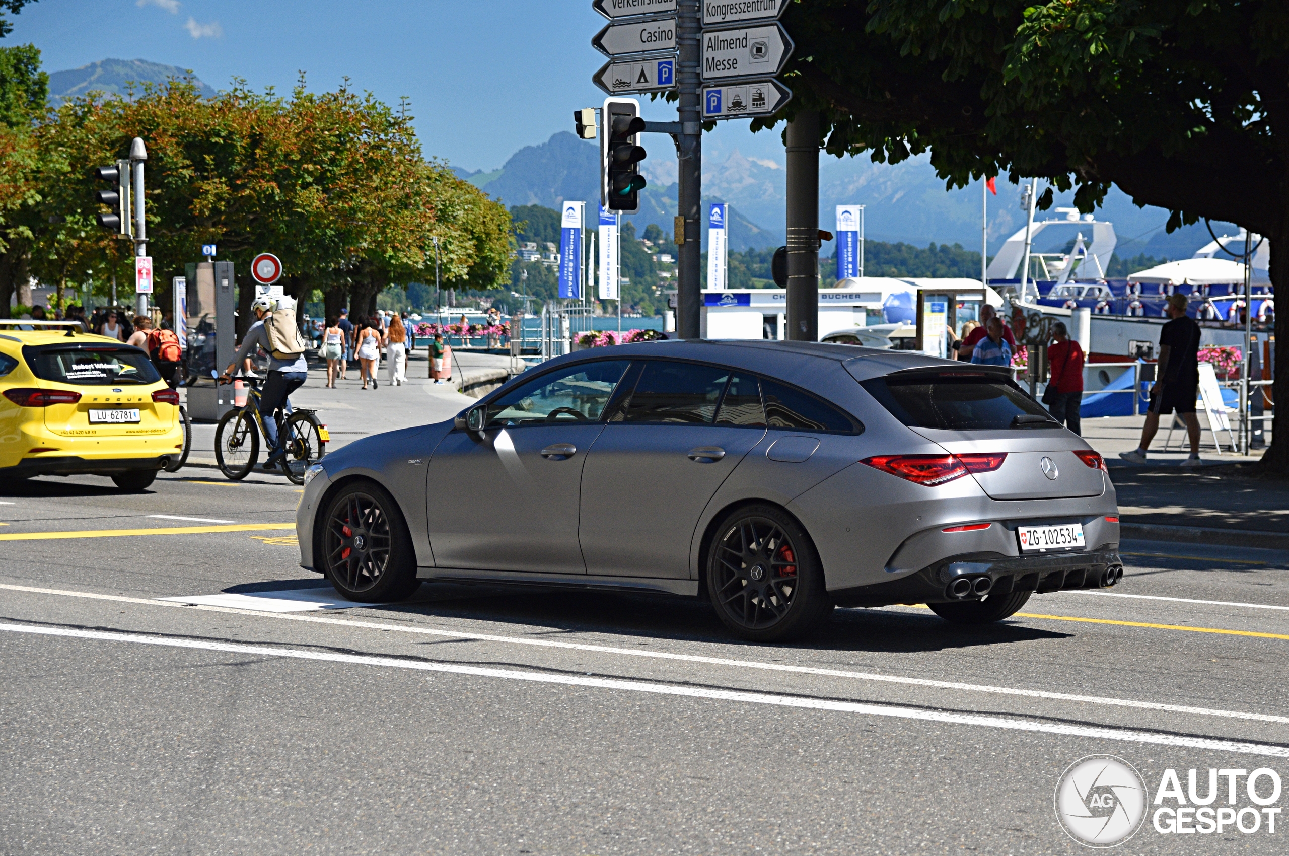
[[[682,339],[701,335],[703,312],[703,81],[700,80],[703,23],[700,0],[677,3],[677,44],[681,49],[679,131],[675,156],[679,162],[678,208],[683,232],[677,241],[675,330]]]

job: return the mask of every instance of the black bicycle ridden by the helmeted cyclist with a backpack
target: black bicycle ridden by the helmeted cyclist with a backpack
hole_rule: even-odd
[[[246,404],[226,413],[215,428],[215,463],[232,481],[241,481],[250,474],[259,459],[259,437],[263,434],[268,438],[264,414],[259,409],[259,380],[244,378],[244,382],[247,385]],[[290,406],[289,401],[284,405],[284,419],[278,424],[278,432],[286,432],[278,434],[286,440],[286,456],[280,467],[293,483],[303,485],[304,471],[322,458],[331,437],[326,425],[318,422],[316,411],[291,410]]]

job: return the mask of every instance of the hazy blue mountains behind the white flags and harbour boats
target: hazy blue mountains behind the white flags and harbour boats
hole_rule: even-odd
[[[599,199],[598,164],[594,142],[561,131],[545,143],[521,148],[500,169],[473,173],[458,169],[456,173],[507,205],[559,208],[566,199],[592,202]],[[651,155],[642,164],[642,173],[650,186],[641,192],[641,210],[634,214],[637,229],[643,232],[648,223],[657,223],[670,232],[677,205],[675,160]],[[996,186],[998,195],[987,197],[990,253],[996,253],[1003,241],[1025,226],[1022,188],[1005,179]],[[786,170],[773,157],[744,155],[735,148],[723,160],[709,157],[704,162],[703,201],[730,204],[730,246],[733,250],[782,244],[785,188]],[[981,183],[946,190],[945,182],[936,177],[929,156],[911,157],[901,164],[874,164],[862,156],[835,159],[821,155],[819,195],[820,227],[828,231],[835,223],[835,205],[862,204],[866,206],[866,237],[873,240],[919,246],[962,244],[967,249],[981,245]],[[1071,205],[1072,193],[1056,195],[1053,208]],[[1054,211],[1047,211],[1039,213],[1036,219],[1057,217]],[[1210,240],[1203,223],[1165,233],[1163,227],[1168,222],[1168,211],[1137,208],[1118,188],[1106,196],[1097,210],[1097,219],[1115,224],[1119,236],[1116,251],[1121,258],[1138,253],[1185,258]],[[1214,223],[1213,228],[1219,235],[1236,231],[1228,223]],[[1063,229],[1048,229],[1040,237],[1056,244],[1045,246],[1036,241],[1036,251],[1060,249],[1074,236]],[[1090,238],[1090,231],[1085,237]],[[830,245],[825,245],[821,253],[830,255]]]

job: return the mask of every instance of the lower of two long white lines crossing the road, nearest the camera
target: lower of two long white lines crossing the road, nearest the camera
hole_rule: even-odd
[[[451,663],[425,663],[378,657],[356,654],[329,654],[322,651],[300,651],[295,648],[275,648],[258,645],[236,645],[229,642],[197,642],[191,639],[168,639],[139,633],[106,633],[102,630],[71,630],[63,628],[37,628],[22,624],[0,624],[0,630],[10,633],[31,633],[35,636],[61,636],[79,639],[99,639],[103,642],[131,642],[135,645],[156,645],[173,648],[196,648],[201,651],[223,651],[228,654],[255,654],[260,656],[286,657],[296,660],[320,660],[324,663],[347,663],[351,665],[374,665],[389,669],[411,669],[416,672],[441,672],[449,674],[468,674],[481,678],[501,678],[507,681],[531,681],[534,683],[554,683],[574,687],[594,687],[599,690],[623,690],[628,692],[651,692],[657,695],[682,696],[690,699],[710,699],[714,701],[742,701],[746,704],[768,704],[784,708],[804,708],[808,710],[833,710],[839,713],[858,713],[870,717],[891,717],[896,719],[918,719],[922,722],[942,722],[947,725],[980,726],[985,728],[1004,728],[1008,731],[1030,731],[1067,737],[1093,737],[1098,740],[1119,740],[1159,746],[1181,746],[1187,749],[1209,749],[1232,752],[1270,758],[1289,758],[1289,746],[1272,746],[1259,743],[1237,740],[1216,740],[1209,737],[1185,737],[1179,735],[1128,728],[1109,728],[1097,726],[1072,726],[1065,723],[1031,722],[1005,717],[944,713],[940,710],[920,710],[918,708],[887,706],[858,701],[833,701],[804,696],[777,695],[770,692],[746,692],[741,690],[708,690],[674,683],[654,683],[621,678],[586,678],[540,672],[519,672],[514,669],[486,669],[473,665]]]

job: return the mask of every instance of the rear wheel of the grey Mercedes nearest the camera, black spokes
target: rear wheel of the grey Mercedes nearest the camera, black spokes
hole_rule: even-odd
[[[736,509],[708,550],[708,594],[745,639],[781,641],[816,629],[831,611],[815,544],[773,505]]]

